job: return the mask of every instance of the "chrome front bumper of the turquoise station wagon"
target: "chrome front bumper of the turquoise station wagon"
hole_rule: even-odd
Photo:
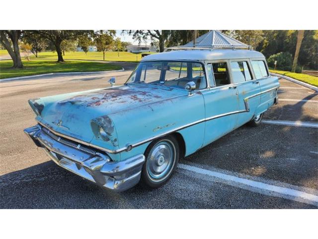
[[[121,192],[135,186],[141,175],[145,156],[138,154],[124,161],[113,162],[107,154],[80,150],[55,139],[40,125],[24,129],[38,147],[44,148],[59,166],[104,188]]]

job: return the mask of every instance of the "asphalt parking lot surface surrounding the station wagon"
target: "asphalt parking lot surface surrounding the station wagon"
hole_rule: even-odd
[[[0,83],[1,209],[318,207],[318,92],[286,80],[280,80],[279,104],[259,127],[244,125],[181,159],[156,190],[101,189],[58,167],[23,133],[36,124],[28,99],[104,88],[111,76],[122,84],[130,73]]]

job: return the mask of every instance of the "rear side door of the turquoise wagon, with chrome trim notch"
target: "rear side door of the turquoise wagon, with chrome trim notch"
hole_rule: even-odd
[[[251,120],[260,104],[259,81],[254,80],[249,60],[231,60],[231,77],[239,93],[239,111],[237,127]]]

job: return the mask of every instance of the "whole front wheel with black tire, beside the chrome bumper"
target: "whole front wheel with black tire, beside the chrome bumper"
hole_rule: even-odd
[[[153,141],[145,152],[146,162],[141,173],[141,185],[158,188],[173,174],[179,160],[179,145],[168,135]]]

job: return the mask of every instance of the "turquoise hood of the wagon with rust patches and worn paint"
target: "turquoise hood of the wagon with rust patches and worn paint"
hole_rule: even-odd
[[[33,104],[43,106],[37,120],[62,134],[85,142],[100,141],[105,148],[116,149],[118,139],[111,114],[132,110],[147,104],[166,101],[186,95],[182,89],[149,84],[129,84],[93,91],[43,97],[32,100]],[[137,110],[137,109],[136,109]],[[96,137],[91,122],[102,119],[112,128],[112,135],[105,141]],[[100,122],[100,120],[99,120]],[[103,147],[102,146],[102,147]]]

